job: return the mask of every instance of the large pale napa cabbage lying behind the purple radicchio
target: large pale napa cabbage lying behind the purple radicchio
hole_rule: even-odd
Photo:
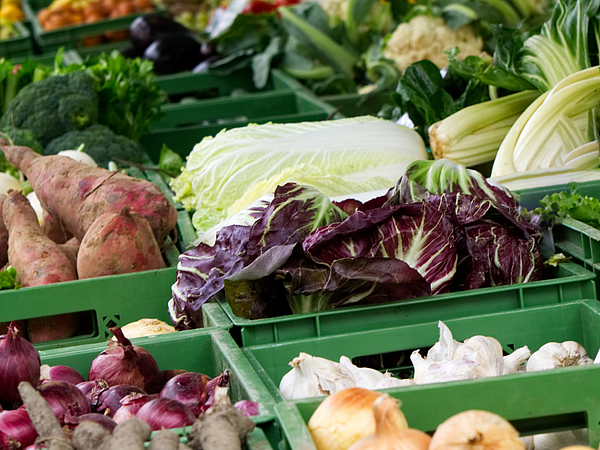
[[[204,231],[278,185],[310,185],[329,197],[388,189],[419,159],[428,155],[416,131],[371,116],[248,125],[196,144],[171,187]]]

